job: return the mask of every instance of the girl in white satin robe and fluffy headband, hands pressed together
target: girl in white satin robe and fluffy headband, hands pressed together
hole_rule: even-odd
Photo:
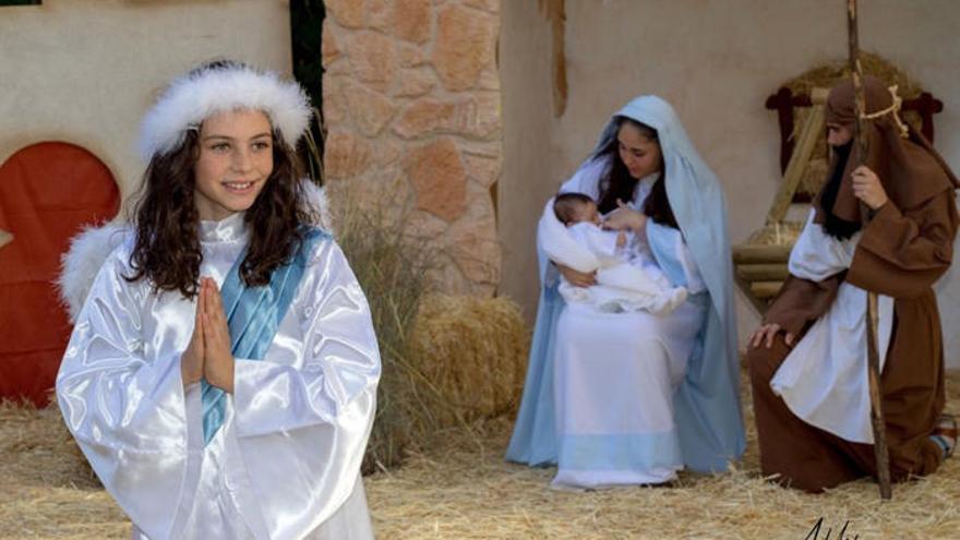
[[[57,379],[134,538],[373,537],[360,464],[380,355],[343,252],[309,225],[292,148],[310,113],[295,83],[221,61],[144,120],[136,235]]]

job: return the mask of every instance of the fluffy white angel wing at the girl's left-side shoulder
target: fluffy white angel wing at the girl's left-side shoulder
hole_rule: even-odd
[[[71,323],[76,322],[104,262],[130,236],[131,229],[125,225],[108,224],[87,227],[70,241],[70,249],[60,257],[57,289],[67,305]]]

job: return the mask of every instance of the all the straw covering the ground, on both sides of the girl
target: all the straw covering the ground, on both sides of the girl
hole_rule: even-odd
[[[960,408],[960,373],[947,382],[948,409]],[[960,459],[936,475],[897,484],[881,502],[862,480],[809,495],[758,473],[749,393],[748,451],[729,473],[683,473],[675,488],[572,493],[549,489],[553,469],[503,460],[507,418],[461,425],[424,441],[395,471],[365,479],[383,539],[819,538],[949,539],[960,531]],[[129,524],[77,467],[56,410],[0,406],[0,538],[128,538]],[[58,435],[57,433],[60,432]],[[73,471],[73,472],[71,472]]]

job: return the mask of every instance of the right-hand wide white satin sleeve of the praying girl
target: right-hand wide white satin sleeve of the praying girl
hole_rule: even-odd
[[[367,298],[340,248],[315,248],[290,310],[302,361],[237,360],[238,444],[278,538],[326,520],[352,493],[376,407],[381,361]]]

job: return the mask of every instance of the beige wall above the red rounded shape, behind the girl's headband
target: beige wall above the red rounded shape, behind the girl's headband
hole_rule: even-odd
[[[93,152],[125,199],[140,119],[173,76],[229,57],[289,73],[286,0],[44,0],[0,8],[0,163],[40,141]]]

